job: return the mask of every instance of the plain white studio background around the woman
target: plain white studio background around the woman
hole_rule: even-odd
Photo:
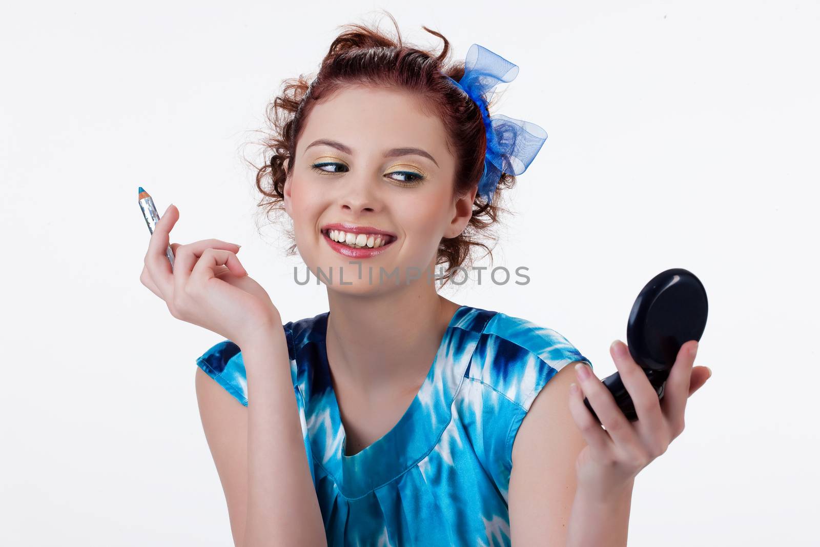
[[[428,25],[453,60],[520,66],[495,112],[549,134],[495,252],[531,283],[445,295],[558,330],[604,377],[646,281],[706,286],[714,374],[636,480],[630,545],[818,545],[818,2],[546,3],[4,7],[0,544],[231,545],[194,393],[221,336],[140,284],[137,187],[180,208],[172,241],[243,244],[285,321],[325,312],[242,157],[281,80],[385,8],[409,42],[439,52]]]

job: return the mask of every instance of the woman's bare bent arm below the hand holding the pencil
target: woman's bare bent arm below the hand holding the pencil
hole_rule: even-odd
[[[237,547],[327,545],[281,325],[242,349],[248,407],[197,368],[199,414]]]

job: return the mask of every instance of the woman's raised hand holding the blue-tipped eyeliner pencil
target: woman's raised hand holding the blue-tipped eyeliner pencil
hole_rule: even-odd
[[[139,280],[165,301],[173,317],[202,326],[235,342],[250,340],[280,321],[266,290],[248,276],[239,245],[220,239],[171,244],[174,267],[166,258],[171,228],[179,210],[171,205],[148,242]]]

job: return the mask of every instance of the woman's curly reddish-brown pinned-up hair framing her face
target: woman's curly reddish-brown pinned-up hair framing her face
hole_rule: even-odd
[[[312,107],[321,98],[348,85],[409,89],[417,93],[427,112],[440,116],[446,128],[446,142],[456,158],[454,194],[463,196],[478,185],[484,172],[486,147],[481,110],[444,77],[460,80],[464,75],[464,62],[447,63],[448,40],[426,26],[421,28],[444,41],[439,55],[406,45],[394,17],[387,15],[395,27],[395,39],[382,33],[378,25],[374,28],[342,25],[344,32],[330,44],[317,75],[311,81],[304,75],[283,80],[280,95],[266,107],[266,121],[271,130],[265,131],[261,144],[263,156],[271,153],[271,157],[264,165],[253,168],[257,171],[256,187],[263,195],[257,206],[263,207],[268,215],[284,211],[285,180],[294,168],[294,162],[288,160],[295,156],[297,141]],[[495,103],[498,97],[499,93],[494,93],[490,103]],[[487,105],[488,112],[491,104]],[[515,175],[502,172],[491,203],[476,194],[472,216],[462,233],[441,239],[435,264],[448,265],[440,278],[444,284],[452,279],[455,268],[471,266],[473,247],[485,248],[482,257],[489,254],[492,262],[492,248],[480,239],[497,242],[490,226],[498,220],[499,212],[508,212],[499,207],[499,198],[503,189],[512,188],[515,183]],[[295,254],[293,230],[287,231],[294,242],[288,253]]]

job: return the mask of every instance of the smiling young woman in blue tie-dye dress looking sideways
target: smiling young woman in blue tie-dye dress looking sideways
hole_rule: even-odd
[[[662,402],[613,343],[628,422],[557,331],[440,296],[425,274],[447,264],[449,279],[485,247],[518,160],[483,80],[465,77],[478,50],[447,66],[426,27],[437,57],[348,27],[317,78],[272,103],[257,173],[330,311],[283,323],[280,295],[218,239],[171,244],[172,270],[173,206],[145,257],[141,279],[173,316],[225,338],[197,359],[196,389],[235,544],[626,545],[635,475],[708,377],[696,342]]]

